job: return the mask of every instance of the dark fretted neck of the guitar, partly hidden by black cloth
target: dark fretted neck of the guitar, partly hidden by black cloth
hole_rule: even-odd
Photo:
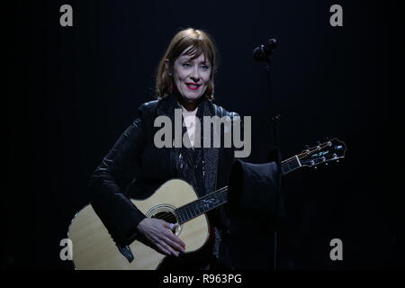
[[[282,175],[292,172],[300,168],[302,165],[297,156],[288,158],[281,163]],[[193,202],[189,202],[175,210],[179,224],[183,224],[195,217],[202,215],[220,205],[228,202],[228,186],[222,187],[219,190],[209,193],[202,198]]]

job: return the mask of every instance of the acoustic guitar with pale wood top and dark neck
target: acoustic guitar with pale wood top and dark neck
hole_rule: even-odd
[[[318,146],[303,150],[281,163],[282,174],[303,166],[318,166],[345,157],[346,144],[331,139]],[[209,223],[205,213],[228,201],[228,186],[197,197],[193,187],[183,180],[173,179],[161,185],[145,200],[132,200],[147,217],[178,223],[175,234],[185,243],[185,253],[191,253],[204,246],[210,236]],[[72,240],[72,257],[76,269],[130,269],[154,270],[165,259],[165,255],[152,247],[135,240],[130,244],[133,261],[127,260],[113,242],[102,221],[91,205],[79,211],[72,220],[67,237]]]

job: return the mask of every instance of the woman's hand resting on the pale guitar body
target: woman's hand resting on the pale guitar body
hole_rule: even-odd
[[[172,229],[175,230],[177,225],[172,225]],[[185,252],[184,242],[173,233],[170,223],[165,220],[145,218],[139,222],[138,230],[163,254],[178,257],[179,252]]]

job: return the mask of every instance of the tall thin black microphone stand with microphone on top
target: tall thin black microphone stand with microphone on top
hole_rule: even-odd
[[[272,151],[275,153],[275,162],[277,165],[276,180],[275,180],[275,203],[274,203],[274,215],[273,215],[273,228],[274,228],[274,258],[273,266],[277,270],[277,224],[278,224],[278,202],[279,195],[281,193],[281,152],[280,152],[280,140],[279,140],[279,127],[278,122],[281,115],[276,113],[275,101],[273,98],[273,93],[271,89],[271,65],[270,56],[273,54],[273,49],[275,48],[276,40],[272,39],[265,45],[261,45],[258,49],[255,49],[254,56],[258,61],[265,61],[265,71],[266,71],[266,82],[268,90],[268,101],[270,106],[270,130],[273,139]]]

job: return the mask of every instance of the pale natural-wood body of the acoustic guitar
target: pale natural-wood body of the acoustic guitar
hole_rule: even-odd
[[[131,200],[147,217],[175,217],[172,213],[186,203],[198,200],[193,187],[183,180],[169,180],[145,200]],[[179,222],[172,218],[169,222]],[[209,225],[205,214],[189,220],[176,229],[175,234],[185,243],[185,253],[202,248],[209,238]],[[130,245],[134,260],[129,263],[121,255],[102,221],[91,205],[79,211],[68,229],[73,243],[73,262],[79,270],[120,269],[155,270],[165,255],[135,240]]]

